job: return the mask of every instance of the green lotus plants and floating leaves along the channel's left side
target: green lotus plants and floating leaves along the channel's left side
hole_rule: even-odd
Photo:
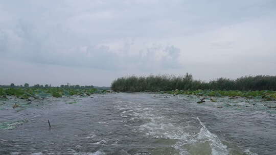
[[[28,107],[37,107],[40,105],[58,101],[57,97],[64,97],[65,104],[77,104],[78,98],[90,96],[91,94],[112,93],[109,90],[96,89],[94,86],[79,86],[70,84],[61,85],[61,87],[52,87],[51,85],[34,85],[9,86],[0,85],[0,110],[13,109],[16,111],[24,110]],[[74,95],[74,96],[73,96]],[[71,97],[72,96],[72,97]],[[56,99],[54,99],[54,97]],[[91,97],[93,98],[93,96]],[[42,104],[41,104],[42,101]],[[3,126],[4,125],[4,126]],[[5,124],[0,124],[0,129],[5,128]]]

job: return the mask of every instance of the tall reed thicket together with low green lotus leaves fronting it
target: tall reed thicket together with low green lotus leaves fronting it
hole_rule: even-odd
[[[260,97],[274,100],[276,98],[276,76],[244,76],[236,80],[219,78],[210,82],[193,80],[192,75],[188,73],[185,76],[129,76],[113,81],[111,89],[198,96]]]

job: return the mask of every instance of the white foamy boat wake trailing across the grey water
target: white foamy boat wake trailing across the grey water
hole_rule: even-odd
[[[217,104],[217,102],[212,103]],[[128,120],[133,122],[147,120],[145,124],[137,127],[128,124],[124,124],[124,126],[132,127],[133,132],[142,131],[146,136],[174,139],[176,143],[172,147],[178,150],[180,154],[193,154],[192,152],[196,149],[205,149],[206,152],[212,155],[229,154],[227,146],[221,142],[217,135],[211,133],[198,117],[197,120],[201,127],[199,132],[198,128],[196,128],[196,132],[194,131],[196,126],[190,126],[189,121],[181,124],[173,123],[175,122],[175,118],[158,113],[161,110],[175,111],[174,109],[164,108],[156,110],[155,108],[145,108],[140,103],[132,104],[122,101],[118,101],[116,104],[118,105],[115,105],[114,108],[121,113],[121,117],[127,117],[129,118]],[[249,149],[246,149],[244,152],[248,155],[258,155],[250,152]]]

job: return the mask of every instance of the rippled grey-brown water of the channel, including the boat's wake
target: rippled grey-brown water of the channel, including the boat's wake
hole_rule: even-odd
[[[0,110],[0,123],[17,121],[0,129],[0,154],[276,154],[276,114],[262,102],[142,93],[75,100]]]

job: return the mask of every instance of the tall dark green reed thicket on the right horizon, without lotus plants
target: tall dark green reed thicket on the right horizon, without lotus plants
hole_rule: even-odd
[[[276,76],[242,76],[238,79],[218,78],[209,82],[194,80],[192,74],[127,76],[114,80],[115,91],[171,91],[171,90],[276,90]]]

